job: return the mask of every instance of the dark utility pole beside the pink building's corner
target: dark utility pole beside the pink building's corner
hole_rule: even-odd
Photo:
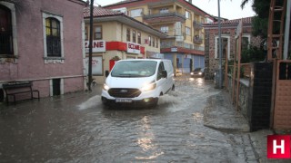
[[[89,68],[88,68],[88,89],[91,89],[92,82],[92,44],[93,44],[93,9],[94,9],[94,0],[91,0],[90,4],[90,40],[89,40]]]

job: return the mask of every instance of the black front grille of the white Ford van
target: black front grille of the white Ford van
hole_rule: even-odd
[[[110,89],[110,96],[115,98],[135,98],[141,94],[138,89]]]

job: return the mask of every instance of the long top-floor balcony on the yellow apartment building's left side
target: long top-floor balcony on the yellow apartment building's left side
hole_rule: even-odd
[[[144,21],[148,24],[155,23],[175,23],[186,22],[186,16],[184,14],[174,13],[159,13],[159,14],[144,14]]]

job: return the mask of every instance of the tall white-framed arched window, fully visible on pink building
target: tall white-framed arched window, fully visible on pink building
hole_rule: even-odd
[[[45,63],[64,63],[63,16],[43,13]]]

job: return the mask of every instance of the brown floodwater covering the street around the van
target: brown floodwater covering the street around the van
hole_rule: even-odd
[[[219,92],[176,78],[156,108],[105,108],[101,87],[0,110],[0,162],[247,162],[248,138],[203,125]]]

